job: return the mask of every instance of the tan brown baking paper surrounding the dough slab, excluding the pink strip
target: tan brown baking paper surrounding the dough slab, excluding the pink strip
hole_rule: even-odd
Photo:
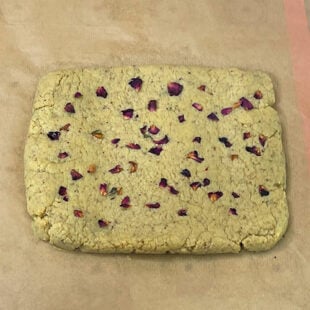
[[[307,309],[309,190],[280,0],[0,0],[0,309]],[[271,251],[90,255],[37,241],[23,148],[38,79],[125,64],[261,69],[273,77],[290,226]]]

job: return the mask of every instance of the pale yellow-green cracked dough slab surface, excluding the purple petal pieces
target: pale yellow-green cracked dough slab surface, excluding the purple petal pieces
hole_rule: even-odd
[[[129,85],[136,77],[143,81],[140,91]],[[170,82],[183,86],[179,95],[169,95]],[[100,86],[106,98],[96,95]],[[253,96],[257,90],[261,99]],[[82,96],[75,98],[76,92]],[[228,115],[221,114],[243,97],[253,109],[235,105]],[[150,100],[157,101],[156,111],[148,110]],[[64,110],[68,102],[75,113]],[[271,79],[258,71],[133,66],[49,73],[38,86],[25,146],[27,209],[35,234],[55,246],[85,252],[203,254],[271,248],[288,222],[285,157],[274,103]],[[122,113],[127,109],[134,110],[130,119]],[[208,118],[210,113],[218,121]],[[60,130],[68,123],[68,131]],[[143,135],[140,128],[151,125],[159,133]],[[95,137],[95,130],[103,137]],[[51,131],[60,132],[58,140],[47,136]],[[250,137],[244,139],[246,132]],[[150,153],[153,140],[165,135],[169,142],[160,155]],[[201,142],[193,142],[195,137]],[[226,147],[222,137],[232,145]],[[115,138],[120,141],[112,144]],[[129,143],[140,149],[128,148]],[[253,146],[261,156],[246,151]],[[193,151],[204,160],[188,158]],[[58,158],[63,152],[68,156]],[[138,165],[133,173],[129,161]],[[87,172],[90,165],[96,165],[94,173]],[[123,170],[109,172],[116,165]],[[73,180],[72,169],[83,177]],[[183,169],[190,178],[181,174]],[[165,188],[159,186],[162,178]],[[205,178],[210,184],[196,190],[190,186]],[[107,184],[108,193],[113,187],[122,190],[102,195],[100,184]],[[67,189],[68,201],[59,194],[60,186]],[[178,194],[170,193],[169,186]],[[268,195],[261,195],[259,186]],[[210,199],[214,192],[222,196]],[[128,208],[120,206],[126,196]],[[149,208],[148,203],[160,207]]]

